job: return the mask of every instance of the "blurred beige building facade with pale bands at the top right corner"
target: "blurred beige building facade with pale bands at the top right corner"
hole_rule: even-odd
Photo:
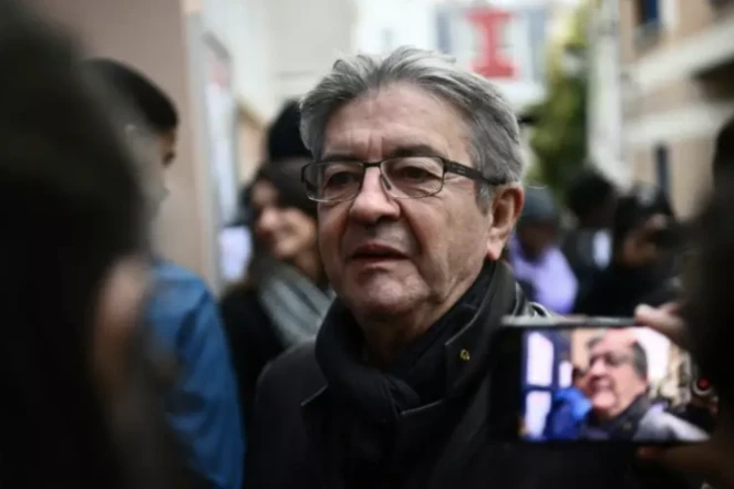
[[[734,115],[734,1],[620,0],[623,154],[691,216]]]

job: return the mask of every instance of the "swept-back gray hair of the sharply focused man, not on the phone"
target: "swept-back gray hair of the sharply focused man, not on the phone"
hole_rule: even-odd
[[[323,152],[329,117],[342,105],[381,87],[410,83],[453,104],[472,131],[469,154],[487,178],[519,181],[523,157],[517,118],[486,79],[463,70],[449,56],[416,48],[399,48],[387,58],[359,54],[338,60],[331,72],[301,101],[301,136],[316,159]],[[479,200],[488,202],[486,185]]]

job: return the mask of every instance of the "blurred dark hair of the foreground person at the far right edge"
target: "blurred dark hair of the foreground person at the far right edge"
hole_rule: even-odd
[[[695,245],[685,275],[689,301],[683,312],[693,357],[720,397],[730,404],[734,402],[734,367],[728,351],[734,341],[732,209],[734,168],[727,168],[721,170],[715,190],[694,223]]]

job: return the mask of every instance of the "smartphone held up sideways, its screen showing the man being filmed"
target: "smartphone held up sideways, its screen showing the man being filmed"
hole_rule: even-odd
[[[507,440],[676,445],[709,438],[710,425],[686,418],[692,386],[702,386],[690,355],[633,319],[508,316],[498,335],[490,404]]]

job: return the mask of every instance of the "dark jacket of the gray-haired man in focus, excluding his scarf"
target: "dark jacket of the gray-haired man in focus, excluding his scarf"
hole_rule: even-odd
[[[330,323],[344,319],[340,308],[337,301],[316,346],[301,345],[263,372],[246,467],[248,489],[689,487],[660,477],[657,469],[632,472],[631,447],[560,451],[493,439],[490,396],[497,393],[490,378],[502,366],[493,363],[497,355],[492,351],[499,318],[545,314],[526,301],[511,277],[490,288],[473,316],[456,325],[458,333],[438,344],[446,362],[445,382],[434,382],[443,389],[441,398],[366,428],[363,412],[343,386],[327,381],[331,366],[320,366],[324,355],[319,348],[328,343],[330,326],[348,326]],[[471,356],[462,355],[464,350]],[[370,443],[384,430],[390,435],[386,451]],[[360,460],[370,455],[372,465]]]

